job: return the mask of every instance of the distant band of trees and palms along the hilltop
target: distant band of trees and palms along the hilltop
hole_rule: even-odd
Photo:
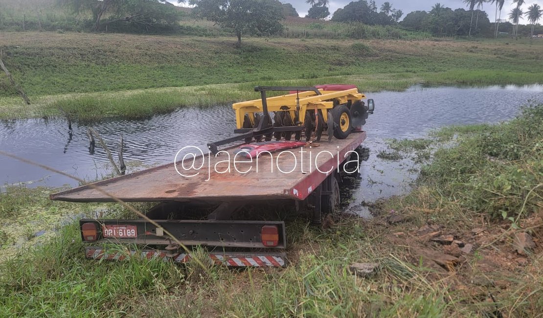
[[[12,0],[18,1],[18,0]],[[60,21],[50,14],[42,15],[41,9],[34,18],[22,15],[22,21],[14,18],[14,10],[0,10],[0,29],[12,30],[94,30],[137,33],[178,33],[207,35],[209,30],[200,26],[181,25],[183,15],[192,11],[192,16],[209,20],[221,27],[220,34],[233,33],[237,45],[241,45],[245,35],[276,35],[285,30],[282,20],[286,17],[298,17],[299,14],[291,3],[278,0],[188,0],[192,9],[182,10],[166,0],[54,0],[62,11],[71,11],[73,15]],[[171,0],[170,0],[171,1]],[[185,2],[187,0],[178,0]],[[525,0],[512,1],[514,8],[508,14],[502,14],[506,0],[462,0],[465,9],[452,10],[440,3],[434,4],[429,11],[413,11],[403,17],[402,10],[395,9],[390,2],[383,2],[378,7],[375,0],[352,1],[339,8],[330,17],[330,0],[306,0],[311,8],[306,17],[333,22],[348,23],[346,26],[357,34],[356,38],[367,34],[367,26],[384,26],[387,33],[420,31],[433,36],[484,36],[497,37],[501,33],[534,35],[543,33],[539,21],[543,11],[539,4],[525,8]],[[484,5],[494,5],[494,22],[490,22]],[[188,12],[187,12],[188,11]],[[62,13],[61,13],[62,14]],[[506,16],[506,18],[502,18]],[[402,20],[403,17],[403,20]],[[70,20],[70,21],[68,21]],[[529,25],[522,25],[522,20]],[[401,21],[401,22],[400,22]],[[326,23],[311,23],[310,26],[325,28]],[[364,28],[362,28],[364,27]],[[375,30],[374,30],[375,31]],[[345,37],[352,37],[349,32]]]

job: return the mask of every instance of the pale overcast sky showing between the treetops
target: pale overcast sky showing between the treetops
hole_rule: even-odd
[[[172,3],[177,4],[175,0],[168,0]],[[250,1],[250,0],[247,0]],[[307,14],[307,10],[309,10],[310,5],[305,2],[305,0],[280,0],[282,3],[292,3],[293,7],[296,8],[296,11],[298,11],[298,14],[303,17]],[[381,4],[385,2],[386,0],[376,0],[376,4],[378,7],[381,7]],[[403,17],[406,16],[411,11],[416,10],[425,10],[430,11],[432,8],[432,5],[434,5],[436,2],[441,3],[445,7],[451,8],[451,9],[458,9],[458,8],[464,8],[465,4],[462,0],[388,0],[393,8],[401,9],[403,11]],[[351,0],[330,0],[329,9],[330,9],[330,17],[332,16],[333,12],[335,12],[338,8],[345,7],[346,4],[349,4]],[[502,9],[502,19],[507,18],[507,15],[509,14],[509,11],[513,9],[514,4],[512,4],[512,0],[506,0],[506,3],[503,5]],[[526,0],[525,4],[522,5],[522,9],[524,12],[528,11],[528,7],[532,5],[533,3],[538,3],[543,7],[543,0]],[[495,13],[496,6],[491,5],[490,3],[485,3],[483,10],[487,11],[489,20],[491,22],[494,22],[494,13]],[[526,18],[523,18],[520,20],[520,23],[527,24]]]

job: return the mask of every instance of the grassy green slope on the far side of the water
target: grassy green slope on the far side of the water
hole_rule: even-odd
[[[23,105],[2,76],[0,118],[59,109],[82,119],[146,117],[252,98],[252,86],[261,84],[353,82],[371,92],[418,82],[543,82],[541,41],[247,38],[235,48],[230,37],[26,32],[0,34],[0,42],[5,64],[35,104]]]

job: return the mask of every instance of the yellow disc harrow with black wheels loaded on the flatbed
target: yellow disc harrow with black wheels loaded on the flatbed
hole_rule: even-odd
[[[219,145],[271,138],[289,141],[293,135],[300,141],[302,133],[306,142],[319,142],[323,131],[327,132],[329,142],[332,136],[344,139],[352,130],[362,130],[375,107],[372,99],[367,100],[367,105],[364,103],[365,95],[354,85],[257,86],[255,91],[260,92],[260,99],[232,105],[236,112],[234,132],[239,135],[207,144],[213,154],[218,152]],[[267,91],[289,93],[267,97]]]

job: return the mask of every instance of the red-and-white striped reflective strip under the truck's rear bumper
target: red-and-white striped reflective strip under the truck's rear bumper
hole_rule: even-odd
[[[90,259],[106,259],[106,260],[124,260],[134,257],[138,253],[141,258],[147,259],[162,259],[164,262],[173,260],[177,263],[187,263],[191,256],[187,253],[171,253],[168,251],[159,250],[118,250],[104,249],[103,247],[86,246],[85,257]],[[232,267],[285,267],[286,254],[273,253],[246,253],[246,252],[211,252],[209,262],[217,265],[226,265]]]

